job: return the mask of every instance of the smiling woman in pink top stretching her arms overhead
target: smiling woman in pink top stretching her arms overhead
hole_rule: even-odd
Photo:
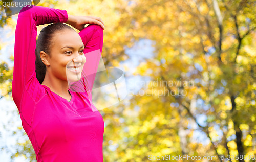
[[[36,26],[49,23],[36,40]],[[103,161],[104,122],[92,111],[90,92],[103,28],[99,17],[42,6],[23,7],[18,15],[12,95],[37,161]],[[75,81],[86,90],[72,91]]]

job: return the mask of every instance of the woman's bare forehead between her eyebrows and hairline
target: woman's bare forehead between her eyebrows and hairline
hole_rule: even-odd
[[[54,34],[52,39],[53,48],[60,49],[62,47],[72,46],[80,48],[83,45],[82,39],[78,33],[72,30],[63,30]]]

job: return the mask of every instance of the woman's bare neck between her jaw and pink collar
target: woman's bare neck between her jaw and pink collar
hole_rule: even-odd
[[[45,79],[41,85],[46,85],[53,91],[55,94],[65,98],[69,101],[70,94],[69,94],[69,83],[65,80],[60,80],[48,73],[46,71]]]

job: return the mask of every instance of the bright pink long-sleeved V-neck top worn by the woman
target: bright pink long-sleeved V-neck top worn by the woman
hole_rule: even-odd
[[[91,104],[95,75],[87,80],[87,90],[75,92],[69,88],[71,101],[41,85],[36,78],[36,26],[67,22],[67,11],[42,6],[25,9],[28,8],[24,7],[18,15],[15,31],[12,96],[37,161],[103,161],[104,121]],[[89,25],[79,35],[86,47],[84,54],[88,54],[84,69],[93,74],[99,55],[92,54],[102,51],[103,30],[99,25]]]

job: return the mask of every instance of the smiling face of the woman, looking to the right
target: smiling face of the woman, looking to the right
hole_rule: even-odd
[[[80,80],[86,57],[83,54],[84,45],[79,34],[66,29],[55,33],[52,42],[48,68],[50,73],[68,82]]]

